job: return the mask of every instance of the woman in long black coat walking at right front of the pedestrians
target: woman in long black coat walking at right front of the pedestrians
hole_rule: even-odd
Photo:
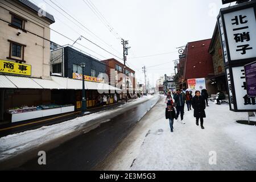
[[[192,107],[194,109],[194,117],[196,118],[196,125],[199,126],[199,118],[201,122],[201,128],[204,129],[205,115],[205,101],[201,96],[200,91],[196,91],[196,96],[192,99]]]

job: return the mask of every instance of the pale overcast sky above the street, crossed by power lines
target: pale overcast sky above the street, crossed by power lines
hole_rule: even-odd
[[[51,25],[53,30],[72,40],[76,40],[82,35],[119,58],[122,58],[122,44],[119,38],[129,40],[131,49],[127,57],[127,64],[134,69],[138,82],[141,83],[144,80],[142,67],[145,65],[147,79],[150,80],[151,86],[155,86],[155,81],[160,76],[174,73],[172,60],[179,58],[177,47],[184,46],[188,42],[212,38],[217,20],[216,16],[220,8],[229,6],[229,4],[222,5],[221,0],[30,1],[43,7],[55,17],[56,22]],[[65,14],[51,1],[82,25]],[[88,6],[90,4],[94,9],[92,6]],[[95,8],[100,12],[97,14],[98,16],[93,13]],[[71,40],[53,31],[51,32],[51,40],[61,46],[73,44]],[[75,44],[75,47],[100,60],[114,57],[123,63],[121,59],[98,48],[86,39],[79,40],[77,43],[90,50],[78,44]],[[166,54],[158,55],[161,53]],[[158,66],[152,67],[154,65]]]

